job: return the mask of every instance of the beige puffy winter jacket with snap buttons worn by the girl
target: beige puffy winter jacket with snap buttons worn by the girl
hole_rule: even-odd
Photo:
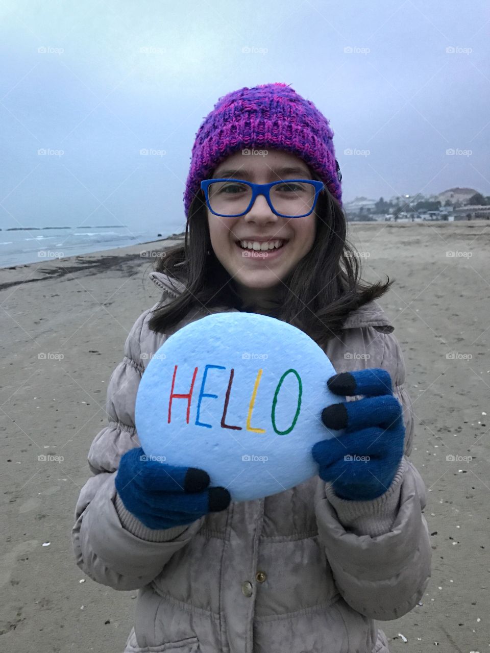
[[[150,278],[167,301],[181,289],[159,272]],[[406,438],[384,495],[342,500],[316,476],[263,500],[232,502],[189,526],[150,530],[125,510],[114,477],[120,457],[140,445],[135,398],[166,338],[148,328],[157,305],[137,319],[110,377],[108,424],[90,447],[93,475],[72,532],[76,564],[91,579],[139,590],[125,653],[387,653],[373,619],[397,619],[417,605],[431,575],[431,545],[421,514],[425,486],[407,457],[414,421],[404,361],[384,311],[376,302],[353,311],[342,338],[325,348],[337,372],[379,367],[391,374]],[[223,310],[230,309],[211,312]]]

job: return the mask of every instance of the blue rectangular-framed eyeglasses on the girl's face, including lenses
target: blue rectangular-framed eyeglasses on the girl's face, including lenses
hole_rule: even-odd
[[[263,195],[270,210],[280,217],[306,217],[315,208],[325,184],[310,179],[252,183],[238,179],[206,179],[201,189],[206,206],[220,217],[239,217],[250,211],[257,195]]]

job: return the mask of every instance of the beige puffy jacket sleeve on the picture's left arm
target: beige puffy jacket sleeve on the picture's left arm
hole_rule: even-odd
[[[108,425],[95,436],[88,454],[93,476],[80,491],[71,541],[76,564],[91,579],[115,590],[135,590],[151,582],[201,528],[153,530],[125,510],[114,486],[121,456],[140,442],[135,428],[135,401],[144,367],[141,332],[155,307],[144,311],[124,345],[123,360],[110,377]]]

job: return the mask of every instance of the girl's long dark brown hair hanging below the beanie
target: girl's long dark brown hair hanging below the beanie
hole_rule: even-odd
[[[314,175],[314,178],[317,178]],[[342,332],[349,313],[384,295],[391,283],[361,280],[359,255],[347,241],[346,214],[325,189],[316,206],[316,238],[310,251],[282,279],[282,292],[267,313],[300,328],[321,347]],[[151,330],[165,332],[190,310],[218,306],[246,310],[212,249],[206,204],[198,193],[190,208],[184,245],[168,249],[156,261],[155,270],[185,284],[182,295],[156,308],[149,322]]]

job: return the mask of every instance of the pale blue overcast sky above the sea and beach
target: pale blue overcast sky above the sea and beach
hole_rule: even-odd
[[[182,227],[201,121],[268,82],[331,121],[344,202],[490,195],[485,0],[8,0],[0,19],[4,229]]]

